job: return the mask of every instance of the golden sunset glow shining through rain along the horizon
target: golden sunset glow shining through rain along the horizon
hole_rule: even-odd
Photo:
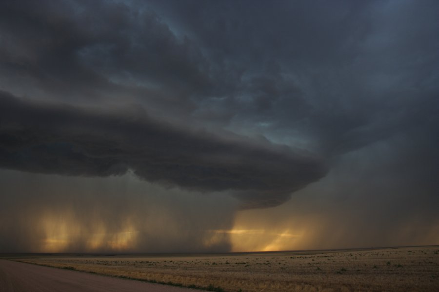
[[[265,212],[266,216],[257,216],[256,211],[239,212],[232,228],[200,229],[196,234],[199,237],[194,240],[190,231],[182,230],[179,233],[179,225],[173,220],[154,220],[146,224],[147,221],[139,220],[134,215],[105,220],[99,213],[85,220],[74,211],[50,210],[34,218],[33,226],[36,228],[30,238],[35,239],[32,252],[42,253],[151,252],[154,250],[148,244],[153,240],[160,242],[160,246],[171,246],[171,251],[183,240],[188,246],[198,244],[201,251],[268,252],[359,246],[356,241],[345,239],[350,230],[341,224],[337,228],[327,228],[325,221],[318,216],[299,218],[291,215],[282,221],[271,216],[273,213]],[[438,226],[425,227],[408,222],[394,230],[391,236],[406,240],[412,238],[411,242],[418,245],[422,245],[426,239],[428,242],[438,242]],[[326,236],[320,236],[322,232],[326,232]],[[397,241],[387,242],[392,246]],[[366,244],[372,246],[373,242]]]

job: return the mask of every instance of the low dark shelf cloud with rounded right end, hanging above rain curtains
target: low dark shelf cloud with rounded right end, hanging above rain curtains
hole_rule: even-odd
[[[309,154],[268,141],[178,128],[145,114],[99,113],[0,97],[0,166],[68,176],[107,177],[131,169],[165,186],[230,190],[243,208],[279,205],[326,173]]]

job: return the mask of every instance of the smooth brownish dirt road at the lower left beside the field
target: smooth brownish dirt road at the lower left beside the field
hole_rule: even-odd
[[[140,291],[196,292],[197,290],[0,260],[0,292]]]

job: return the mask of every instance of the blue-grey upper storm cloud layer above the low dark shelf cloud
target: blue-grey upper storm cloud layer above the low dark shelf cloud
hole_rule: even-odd
[[[68,104],[139,103],[161,119],[265,135],[331,159],[437,128],[437,9],[435,1],[3,1],[1,84]],[[110,164],[89,171],[128,167]]]

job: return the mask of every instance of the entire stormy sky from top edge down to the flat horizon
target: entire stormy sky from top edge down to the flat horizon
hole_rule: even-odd
[[[439,244],[436,0],[0,2],[0,252]]]

